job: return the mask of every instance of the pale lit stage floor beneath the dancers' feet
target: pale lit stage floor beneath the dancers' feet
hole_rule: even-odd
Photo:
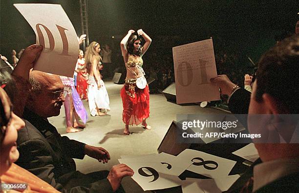
[[[223,111],[210,107],[201,108],[199,105],[180,106],[168,102],[162,94],[150,95],[150,117],[147,120],[151,130],[144,130],[141,125],[130,126],[131,135],[123,135],[125,125],[122,121],[122,100],[120,90],[123,85],[106,81],[106,88],[110,99],[111,111],[107,116],[92,117],[89,114],[88,102],[84,101],[84,106],[88,114],[88,120],[84,131],[79,133],[65,133],[64,108],[61,109],[60,116],[51,117],[49,121],[56,126],[58,132],[84,142],[88,145],[105,148],[111,160],[107,164],[85,156],[83,160],[75,159],[77,170],[82,173],[90,173],[99,170],[110,170],[113,165],[119,164],[121,155],[156,154],[157,148],[164,135],[171,125],[172,120],[176,120],[177,114],[223,114]],[[138,184],[131,178],[125,177],[122,185],[128,193],[143,192]]]

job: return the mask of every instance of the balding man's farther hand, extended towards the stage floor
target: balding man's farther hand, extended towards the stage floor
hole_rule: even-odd
[[[103,163],[107,163],[110,159],[108,151],[101,147],[85,145],[85,154],[99,160],[99,162],[103,161]]]

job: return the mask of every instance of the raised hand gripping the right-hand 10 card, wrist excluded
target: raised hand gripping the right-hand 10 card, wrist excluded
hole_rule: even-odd
[[[224,95],[230,95],[234,86],[236,86],[226,75],[218,75],[211,78],[210,81],[212,84],[218,86]]]

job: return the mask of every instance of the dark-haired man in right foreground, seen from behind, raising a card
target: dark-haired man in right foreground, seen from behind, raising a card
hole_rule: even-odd
[[[267,129],[272,121],[275,121],[274,119],[269,119],[269,122],[253,123],[250,117],[260,114],[277,116],[299,113],[299,101],[294,97],[298,96],[299,88],[298,63],[299,35],[294,35],[282,40],[261,57],[252,95],[245,89],[237,88],[225,75],[212,78],[211,81],[218,85],[224,94],[231,95],[229,107],[234,114],[248,112],[250,132],[255,131],[256,126]],[[292,86],[287,86],[290,83]],[[289,123],[289,127],[296,127],[297,123]],[[279,129],[289,131],[286,127]],[[228,192],[239,192],[241,187],[243,187],[241,192],[247,192],[250,189],[248,187],[250,181],[253,181],[252,191],[256,193],[297,192],[299,190],[299,143],[255,143],[255,146],[262,163],[255,164],[253,171],[244,174],[249,176],[245,186],[241,183],[242,180],[244,182],[241,176],[232,186],[234,188]],[[248,174],[253,175],[250,177]]]

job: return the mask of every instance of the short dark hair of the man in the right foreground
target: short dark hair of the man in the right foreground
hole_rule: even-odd
[[[256,100],[267,93],[278,99],[291,114],[298,114],[299,35],[280,41],[258,62]]]

